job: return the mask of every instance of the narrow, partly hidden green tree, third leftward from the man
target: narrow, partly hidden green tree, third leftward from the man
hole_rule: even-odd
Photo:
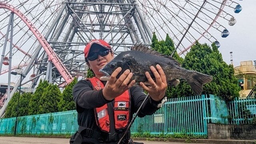
[[[42,103],[39,103],[39,100],[42,97],[42,94],[47,86],[49,86],[49,84],[46,80],[40,80],[38,87],[36,88],[35,93],[32,94],[30,102],[28,104],[28,115],[38,114],[38,106],[42,105]]]

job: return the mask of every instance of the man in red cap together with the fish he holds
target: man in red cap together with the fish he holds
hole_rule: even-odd
[[[121,138],[122,144],[134,143],[130,133],[124,132],[146,98],[143,90],[149,98],[138,113],[140,117],[162,107],[167,86],[178,85],[179,79],[186,80],[196,95],[212,80],[141,44],[114,58],[107,42],[92,40],[84,48],[84,56],[95,77],[81,80],[73,88],[79,130],[71,144],[117,144]]]

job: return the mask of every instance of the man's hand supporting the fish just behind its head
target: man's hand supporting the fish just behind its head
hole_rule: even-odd
[[[116,79],[116,76],[121,72],[121,70],[122,68],[120,67],[116,68],[116,70],[111,74],[110,80],[102,90],[103,96],[107,100],[113,100],[135,84],[135,80],[130,82],[132,78],[132,72],[130,72],[130,70],[124,71],[124,73]]]

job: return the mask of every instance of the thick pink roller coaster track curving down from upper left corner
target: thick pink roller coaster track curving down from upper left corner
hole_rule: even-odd
[[[8,9],[22,19],[22,21],[28,26],[34,36],[36,36],[37,40],[42,45],[46,54],[48,55],[49,60],[54,64],[54,66],[56,66],[56,69],[58,70],[58,72],[60,72],[60,75],[64,78],[66,83],[68,84],[72,82],[72,75],[68,72],[64,64],[62,64],[62,62],[58,58],[57,54],[52,50],[50,44],[48,44],[44,36],[36,29],[32,22],[30,22],[30,20],[28,20],[28,18],[26,18],[26,16],[22,12],[20,12],[20,10],[10,4],[0,2],[0,8]]]

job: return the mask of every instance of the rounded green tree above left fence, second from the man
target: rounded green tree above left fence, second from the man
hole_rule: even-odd
[[[58,102],[60,101],[60,95],[60,89],[56,84],[50,84],[47,86],[39,100],[40,105],[38,114],[58,112]]]

